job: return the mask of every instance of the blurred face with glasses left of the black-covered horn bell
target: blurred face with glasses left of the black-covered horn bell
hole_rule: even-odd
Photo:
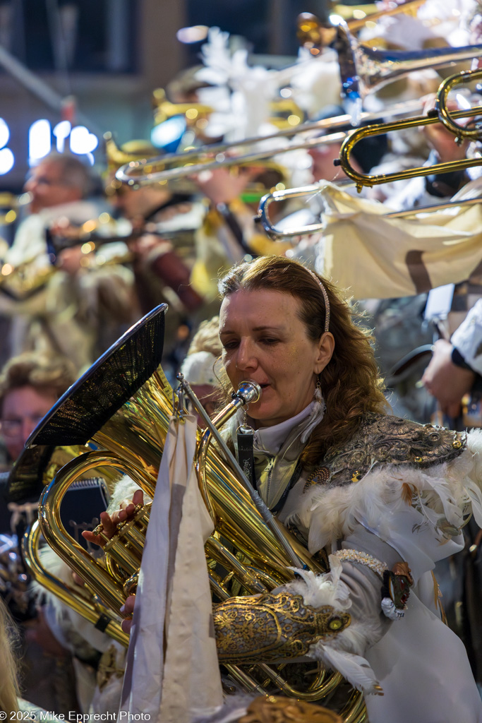
[[[0,434],[12,461],[20,456],[27,438],[59,396],[51,388],[30,385],[9,390],[1,406]]]

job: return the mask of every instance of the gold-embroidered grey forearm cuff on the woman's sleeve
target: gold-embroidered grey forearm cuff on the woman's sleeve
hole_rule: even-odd
[[[286,592],[233,597],[215,605],[213,615],[219,661],[231,663],[298,658],[350,625],[347,613],[311,607]]]

